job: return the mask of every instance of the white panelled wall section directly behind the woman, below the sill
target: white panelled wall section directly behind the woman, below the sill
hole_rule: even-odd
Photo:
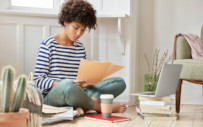
[[[103,0],[104,4],[108,4]],[[117,1],[113,1],[117,2]],[[136,5],[133,10],[138,10],[137,1],[128,0],[128,5]],[[117,7],[117,6],[116,6]],[[130,8],[130,7],[129,7]],[[108,7],[107,7],[108,9]],[[130,9],[125,10],[129,14]],[[104,11],[102,11],[104,12]],[[126,13],[126,14],[127,14]],[[125,14],[125,13],[124,13]],[[86,32],[80,39],[87,50],[87,59],[104,62],[109,60],[113,63],[123,65],[124,69],[113,74],[124,78],[127,88],[115,101],[122,101],[129,104],[134,103],[134,98],[129,98],[129,93],[135,88],[135,47],[137,15],[125,16],[122,13],[105,14],[99,13],[98,28],[96,31]],[[121,17],[119,17],[121,16]],[[118,19],[122,19],[122,40],[119,36]],[[37,50],[42,40],[49,35],[58,33],[63,28],[57,23],[57,16],[23,14],[19,12],[4,12],[0,10],[0,68],[11,64],[17,70],[17,75],[34,71]],[[125,32],[124,32],[125,31]],[[122,43],[125,53],[122,54]],[[132,59],[133,58],[133,59]],[[137,64],[138,65],[138,64]]]

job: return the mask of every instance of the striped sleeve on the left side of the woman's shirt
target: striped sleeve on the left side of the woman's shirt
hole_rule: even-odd
[[[50,50],[46,43],[42,43],[35,66],[34,81],[40,89],[50,89],[54,83],[53,79],[48,77],[50,70]]]

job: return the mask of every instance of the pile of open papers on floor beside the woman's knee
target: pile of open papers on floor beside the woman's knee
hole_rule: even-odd
[[[73,107],[54,107],[43,105],[42,108],[42,125],[57,123],[64,120],[73,120],[78,111]]]

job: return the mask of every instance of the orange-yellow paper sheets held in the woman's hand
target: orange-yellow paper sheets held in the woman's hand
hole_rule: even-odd
[[[101,63],[82,59],[80,61],[77,80],[87,80],[88,85],[93,85],[122,68],[123,66],[109,61]]]

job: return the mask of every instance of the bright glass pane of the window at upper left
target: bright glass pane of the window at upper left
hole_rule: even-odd
[[[11,7],[54,8],[54,0],[11,0]]]

